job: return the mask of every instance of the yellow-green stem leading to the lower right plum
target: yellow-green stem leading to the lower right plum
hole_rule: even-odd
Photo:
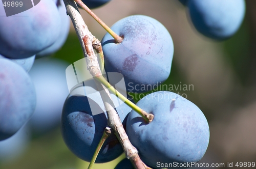
[[[110,83],[102,76],[95,76],[96,80],[98,80],[102,85],[104,85],[106,88],[109,89],[109,91],[113,94],[115,94],[120,100],[122,100],[125,104],[130,106],[133,110],[138,112],[138,114],[147,122],[152,122],[154,115],[148,114],[146,111],[144,111],[142,108],[131,102],[129,99],[124,97],[121,93],[119,93],[113,86],[110,85]]]

